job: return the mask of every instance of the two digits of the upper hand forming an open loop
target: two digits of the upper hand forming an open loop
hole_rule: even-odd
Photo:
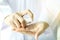
[[[22,12],[17,12],[15,14],[18,21],[21,22],[22,27],[24,27],[26,25],[26,23],[27,23],[26,21],[23,21],[24,20],[23,16],[26,15],[26,14],[28,14],[30,16],[30,18],[32,19],[32,21],[33,21],[33,13],[30,10],[24,10]]]

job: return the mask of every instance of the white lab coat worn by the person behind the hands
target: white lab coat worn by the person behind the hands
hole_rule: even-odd
[[[41,0],[26,0],[25,9],[30,9],[34,13],[33,22],[46,21],[50,25],[49,28],[47,28],[46,31],[39,36],[39,38],[38,38],[39,40],[57,40],[57,38],[56,38],[57,25],[53,24],[52,25],[53,28],[52,28],[51,24],[53,23],[54,19],[58,15],[59,6],[56,6],[57,4],[54,5],[55,3],[57,3],[56,0],[52,4],[50,2],[53,2],[53,1],[52,0],[50,0],[50,1],[48,1],[48,0],[45,0],[45,1],[44,0],[42,0],[42,1]],[[13,4],[11,4],[11,3],[13,3]],[[20,4],[22,7],[21,7],[21,9],[19,9],[19,6],[18,6],[19,3],[20,2],[16,1],[16,0],[14,2],[10,1],[9,5],[8,5],[9,7],[6,8],[6,10],[8,10],[8,12],[6,10],[2,9],[2,11],[1,11],[2,15],[3,15],[3,12],[4,13],[6,12],[6,14],[8,14],[8,13],[12,13],[12,11],[15,12],[15,11],[19,11],[19,10],[24,10],[23,4],[22,5]],[[22,1],[22,3],[23,3],[23,1]],[[32,37],[32,36],[14,32],[11,30],[10,27],[4,28],[3,26],[7,27],[7,25],[2,23],[1,40],[34,40],[34,37]]]

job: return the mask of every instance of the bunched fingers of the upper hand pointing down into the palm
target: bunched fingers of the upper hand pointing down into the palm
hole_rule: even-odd
[[[11,25],[12,27],[15,25],[16,28],[21,28],[21,27],[24,28],[26,25],[25,20],[18,13],[11,14],[5,17],[4,20],[6,24]]]

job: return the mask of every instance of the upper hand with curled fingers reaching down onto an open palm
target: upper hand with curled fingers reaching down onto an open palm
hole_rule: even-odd
[[[5,23],[12,27],[13,30],[17,28],[25,28],[26,21],[23,18],[24,15],[28,14],[33,20],[33,14],[30,10],[24,10],[22,12],[16,12],[5,17]]]

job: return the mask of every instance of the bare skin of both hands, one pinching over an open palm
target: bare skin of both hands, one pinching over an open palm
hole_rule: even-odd
[[[27,25],[27,22],[23,18],[26,14],[28,14],[33,21],[33,13],[30,10],[24,10],[6,16],[5,23],[11,26],[14,31],[32,35],[35,37],[35,40],[38,40],[39,35],[41,35],[49,25],[47,22],[37,22]]]

